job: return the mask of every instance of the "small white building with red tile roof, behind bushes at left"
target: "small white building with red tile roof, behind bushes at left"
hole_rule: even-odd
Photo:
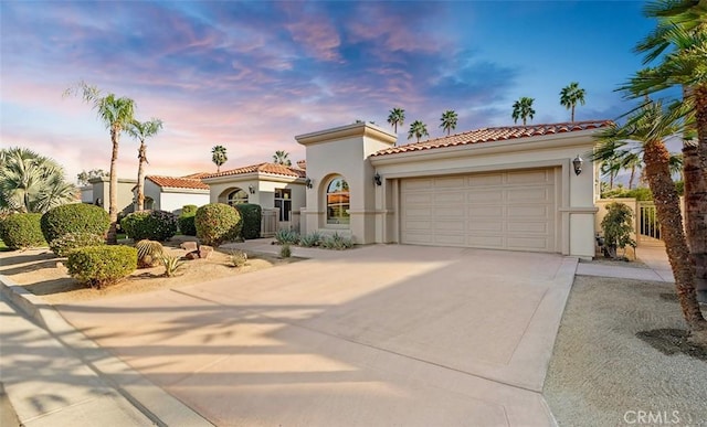
[[[202,206],[209,203],[209,185],[200,178],[207,173],[187,177],[145,177],[145,209],[181,213],[184,205]],[[137,185],[133,188],[137,201]],[[137,205],[136,205],[137,206]]]

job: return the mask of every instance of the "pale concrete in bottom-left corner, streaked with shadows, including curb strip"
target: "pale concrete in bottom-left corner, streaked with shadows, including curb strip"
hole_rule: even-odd
[[[2,427],[211,426],[0,276]]]

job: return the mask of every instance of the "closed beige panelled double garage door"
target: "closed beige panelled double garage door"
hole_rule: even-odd
[[[553,169],[401,181],[401,242],[556,252]]]

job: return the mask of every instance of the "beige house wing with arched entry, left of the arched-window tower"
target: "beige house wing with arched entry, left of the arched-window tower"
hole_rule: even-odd
[[[305,171],[296,167],[258,163],[212,173],[201,179],[211,190],[211,203],[255,203],[277,209],[278,227],[299,226],[305,204]]]

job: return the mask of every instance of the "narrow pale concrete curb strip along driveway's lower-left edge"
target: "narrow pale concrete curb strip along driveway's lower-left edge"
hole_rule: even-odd
[[[152,384],[127,363],[102,349],[70,324],[54,307],[0,275],[0,293],[22,313],[45,329],[55,340],[116,389],[157,426],[213,426],[189,406]],[[129,377],[118,383],[116,377]]]

